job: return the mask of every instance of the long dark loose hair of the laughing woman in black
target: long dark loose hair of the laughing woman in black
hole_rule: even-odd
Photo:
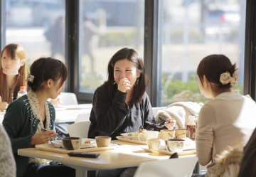
[[[142,58],[138,57],[138,53],[134,49],[122,48],[118,50],[117,53],[114,53],[107,66],[108,80],[105,82],[105,84],[109,85],[109,93],[112,97],[114,91],[117,90],[117,85],[114,84],[114,64],[117,63],[117,61],[124,59],[134,63],[136,65],[137,72],[140,73],[139,78],[137,78],[136,84],[133,88],[132,99],[129,102],[129,105],[132,105],[142,101],[142,97],[146,91],[146,86],[149,83],[148,77],[146,76],[144,70],[144,62]]]

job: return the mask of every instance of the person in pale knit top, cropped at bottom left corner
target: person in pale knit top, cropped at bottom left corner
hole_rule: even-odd
[[[11,151],[11,141],[0,124],[0,176],[15,177],[16,165]]]

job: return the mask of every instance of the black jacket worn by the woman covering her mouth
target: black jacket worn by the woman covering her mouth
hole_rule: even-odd
[[[128,106],[126,93],[114,90],[112,96],[107,83],[95,91],[90,113],[89,138],[137,132],[139,129],[154,129],[155,119],[149,96],[144,93],[142,102]]]

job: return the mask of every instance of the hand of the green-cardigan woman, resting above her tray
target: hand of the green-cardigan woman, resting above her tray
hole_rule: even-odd
[[[45,144],[51,139],[54,139],[56,136],[57,134],[53,130],[41,131],[32,136],[31,144]]]

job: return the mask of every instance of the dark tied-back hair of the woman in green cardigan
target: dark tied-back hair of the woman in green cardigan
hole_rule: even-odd
[[[30,75],[33,75],[33,80],[29,79]],[[31,65],[30,75],[28,75],[28,86],[35,92],[43,88],[42,83],[46,80],[52,79],[57,81],[61,78],[62,85],[68,77],[68,70],[60,60],[55,58],[39,58]]]

